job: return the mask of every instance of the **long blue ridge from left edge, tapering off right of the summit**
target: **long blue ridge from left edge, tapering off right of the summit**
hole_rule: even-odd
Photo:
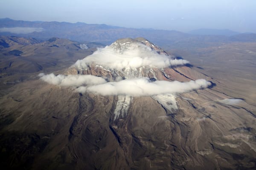
[[[18,21],[9,18],[1,19],[0,26],[0,33],[6,36],[20,35],[21,37],[33,37],[40,40],[61,37],[79,42],[101,42],[105,44],[123,37],[148,37],[156,41],[186,37],[186,34],[179,31],[124,28],[105,24]],[[22,34],[26,31],[27,34]]]

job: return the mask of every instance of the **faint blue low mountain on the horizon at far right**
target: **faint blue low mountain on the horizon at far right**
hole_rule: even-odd
[[[239,32],[235,32],[229,29],[196,29],[189,31],[189,34],[195,34],[195,35],[224,35],[224,36],[233,36],[236,34],[240,34]]]

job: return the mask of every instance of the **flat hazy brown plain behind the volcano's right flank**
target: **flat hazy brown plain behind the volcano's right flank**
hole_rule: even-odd
[[[244,98],[255,105],[255,42],[233,42],[186,50],[170,49],[169,53],[185,57],[195,65],[197,71],[218,80],[218,90],[236,98]]]

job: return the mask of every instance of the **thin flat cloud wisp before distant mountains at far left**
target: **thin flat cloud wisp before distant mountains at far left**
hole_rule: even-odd
[[[33,32],[41,32],[44,31],[44,28],[38,27],[11,27],[11,28],[0,28],[0,32],[10,32],[14,34],[30,34]]]

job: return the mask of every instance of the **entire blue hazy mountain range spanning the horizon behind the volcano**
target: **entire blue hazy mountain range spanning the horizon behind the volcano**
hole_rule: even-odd
[[[124,28],[105,24],[22,21],[0,19],[0,35],[48,40],[52,37],[78,42],[100,42],[109,45],[119,38],[145,37],[163,48],[204,47],[211,43],[233,41],[256,42],[256,34],[239,34],[230,30],[199,29],[180,31]]]

